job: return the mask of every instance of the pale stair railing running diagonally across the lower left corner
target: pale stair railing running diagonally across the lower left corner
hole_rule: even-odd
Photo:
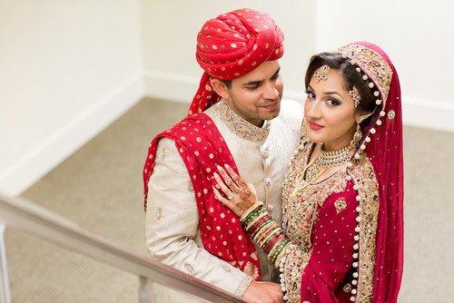
[[[81,253],[91,259],[123,269],[140,279],[139,302],[153,302],[146,284],[150,281],[167,288],[180,290],[216,303],[244,302],[242,298],[213,287],[159,261],[123,247],[109,239],[80,228],[71,220],[21,198],[10,198],[0,193],[0,260],[2,297],[11,302],[5,254],[5,228],[23,230],[28,234],[51,241],[58,246]]]

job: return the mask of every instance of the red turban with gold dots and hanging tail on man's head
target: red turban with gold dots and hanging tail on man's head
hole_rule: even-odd
[[[221,96],[210,79],[233,80],[265,61],[281,58],[283,34],[270,15],[243,8],[207,21],[197,35],[196,58],[202,69],[189,114],[203,112]]]

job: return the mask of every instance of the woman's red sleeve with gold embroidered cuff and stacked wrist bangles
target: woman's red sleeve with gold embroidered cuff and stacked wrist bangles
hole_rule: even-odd
[[[347,275],[353,264],[357,202],[351,186],[332,194],[321,206],[311,249],[291,242],[260,206],[242,219],[252,239],[281,270],[281,287],[288,302],[338,301],[336,293],[350,278]]]

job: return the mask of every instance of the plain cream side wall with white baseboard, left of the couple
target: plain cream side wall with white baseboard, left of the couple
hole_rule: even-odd
[[[0,2],[0,191],[25,190],[143,96],[138,5]]]

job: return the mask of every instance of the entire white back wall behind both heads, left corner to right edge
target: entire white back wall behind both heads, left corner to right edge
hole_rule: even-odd
[[[147,94],[190,102],[202,73],[194,59],[196,34],[207,18],[239,5],[226,0],[142,0],[142,6]],[[291,0],[242,1],[241,6],[262,9],[281,25],[287,96],[305,97],[302,74],[311,54],[369,40],[390,54],[400,73],[404,123],[454,132],[454,97],[448,93],[454,67],[449,59],[454,49],[453,2]]]

